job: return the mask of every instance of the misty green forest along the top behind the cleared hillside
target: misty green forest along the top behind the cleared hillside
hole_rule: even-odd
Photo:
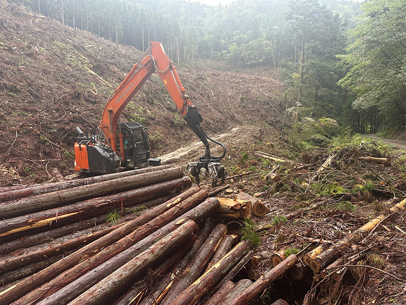
[[[404,125],[403,0],[369,0],[363,14],[350,0],[236,0],[224,7],[179,0],[9,2],[142,51],[161,41],[176,63],[214,58],[236,68],[279,69],[294,119],[329,116],[360,132],[376,131],[385,120]]]

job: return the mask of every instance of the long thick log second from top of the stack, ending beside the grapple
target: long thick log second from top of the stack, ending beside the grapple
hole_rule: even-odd
[[[3,202],[0,204],[0,215],[2,215],[3,218],[14,218],[89,198],[124,192],[180,177],[183,177],[183,170],[180,167],[177,167],[155,170],[109,181],[96,182],[86,186],[63,189],[51,193]]]

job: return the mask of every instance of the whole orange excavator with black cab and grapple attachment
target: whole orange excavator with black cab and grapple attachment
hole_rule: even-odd
[[[112,98],[107,102],[100,120],[100,127],[95,135],[84,135],[76,128],[75,170],[90,173],[112,173],[119,168],[143,168],[159,165],[159,159],[151,159],[149,140],[144,127],[136,122],[121,123],[120,113],[136,95],[142,85],[157,72],[174,100],[180,115],[187,125],[206,146],[205,155],[198,162],[189,163],[186,173],[195,177],[199,184],[199,173],[206,171],[213,178],[213,185],[218,179],[225,179],[225,169],[220,161],[226,154],[225,145],[209,137],[201,128],[203,121],[197,108],[190,102],[182,86],[172,60],[166,55],[162,44],[151,42],[141,59],[127,74]],[[212,141],[223,148],[221,156],[211,156]]]

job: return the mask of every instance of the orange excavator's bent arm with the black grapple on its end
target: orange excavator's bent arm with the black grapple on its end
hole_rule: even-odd
[[[158,73],[168,90],[168,93],[174,100],[180,115],[186,120],[188,126],[206,147],[205,155],[201,156],[198,162],[189,163],[187,171],[196,177],[196,182],[199,182],[198,173],[202,168],[205,168],[213,177],[213,184],[217,182],[218,177],[223,181],[225,172],[224,167],[220,164],[220,160],[225,156],[225,146],[210,138],[201,128],[200,123],[203,119],[197,111],[197,108],[190,102],[186,90],[176,72],[175,65],[166,55],[162,44],[159,42],[150,43],[149,48],[145,51],[139,62],[132,67],[131,71],[127,74],[122,83],[115,90],[112,98],[106,104],[100,121],[100,130],[103,133],[105,145],[107,144],[107,146],[113,150],[113,155],[119,156],[120,160],[123,162],[125,159],[123,134],[121,129],[119,130],[119,133],[117,133],[117,127],[120,128],[121,126],[119,116],[125,106],[134,95],[137,94],[138,90],[154,72]],[[119,136],[118,139],[117,135]],[[79,138],[80,137],[78,137],[78,139]],[[87,138],[84,138],[82,133],[80,139]],[[222,146],[222,156],[211,156],[208,140]],[[89,142],[91,142],[91,140]],[[79,148],[80,147],[81,146],[79,145]],[[76,160],[78,161],[78,159]]]

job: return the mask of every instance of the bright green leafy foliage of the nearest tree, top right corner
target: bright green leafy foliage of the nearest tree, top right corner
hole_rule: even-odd
[[[403,0],[371,0],[349,32],[352,44],[341,56],[348,69],[339,84],[356,96],[362,113],[384,112],[389,130],[404,126],[406,108],[406,7]]]

